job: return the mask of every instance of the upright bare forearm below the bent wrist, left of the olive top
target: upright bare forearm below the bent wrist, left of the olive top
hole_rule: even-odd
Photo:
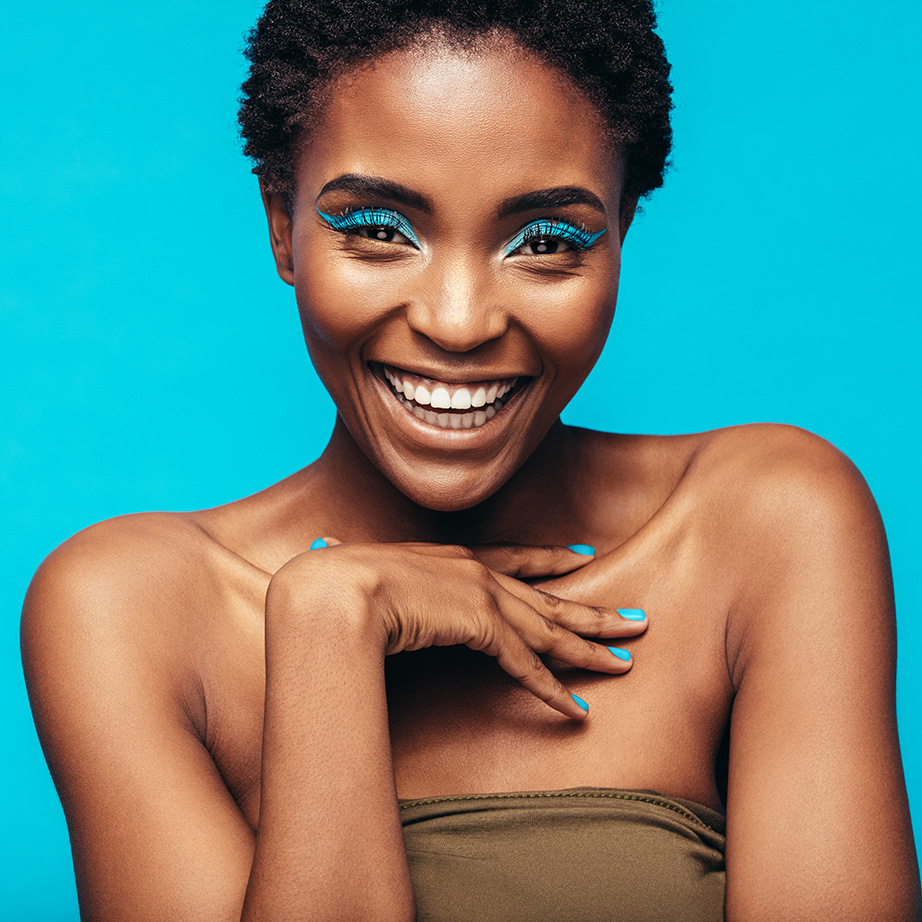
[[[243,922],[414,918],[385,639],[373,624],[363,593],[319,569],[273,580],[262,805]]]

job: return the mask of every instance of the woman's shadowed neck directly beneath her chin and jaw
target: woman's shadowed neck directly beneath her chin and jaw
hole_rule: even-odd
[[[342,541],[569,544],[581,540],[571,533],[578,467],[576,430],[558,420],[496,493],[469,509],[439,512],[397,490],[337,418],[323,455],[304,473],[312,520]]]

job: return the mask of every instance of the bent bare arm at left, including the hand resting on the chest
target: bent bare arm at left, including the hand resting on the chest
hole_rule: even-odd
[[[23,620],[36,723],[67,815],[88,922],[412,919],[385,654],[471,642],[568,710],[574,702],[535,649],[624,671],[604,647],[555,628],[498,589],[491,591],[510,619],[534,622],[522,628],[530,645],[502,636],[500,603],[492,610],[486,590],[482,617],[470,618],[471,579],[483,581],[489,571],[469,558],[380,546],[302,555],[276,575],[267,597],[262,809],[254,834],[191,714],[201,693],[186,668],[195,639],[184,632],[202,607],[190,598],[190,587],[203,582],[199,562],[190,573],[181,548],[164,551],[163,542],[152,545],[126,527],[128,534],[121,526],[114,536],[111,526],[85,534],[52,555]],[[517,585],[541,604],[540,594]],[[446,605],[455,596],[467,617]],[[598,611],[549,603],[553,609],[561,620],[581,613],[591,622],[587,633],[608,633]],[[432,610],[441,620],[422,617]],[[610,620],[611,636],[639,630]],[[540,670],[531,674],[535,662]]]

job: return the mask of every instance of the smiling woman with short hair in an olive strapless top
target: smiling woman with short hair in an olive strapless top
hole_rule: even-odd
[[[561,12],[267,8],[242,123],[338,417],[37,575],[86,918],[918,916],[860,476],[559,421],[669,142],[648,4]]]

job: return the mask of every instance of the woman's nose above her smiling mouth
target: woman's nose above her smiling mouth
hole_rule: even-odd
[[[440,263],[408,304],[410,327],[446,352],[471,352],[502,336],[509,321],[489,270],[467,260]]]

